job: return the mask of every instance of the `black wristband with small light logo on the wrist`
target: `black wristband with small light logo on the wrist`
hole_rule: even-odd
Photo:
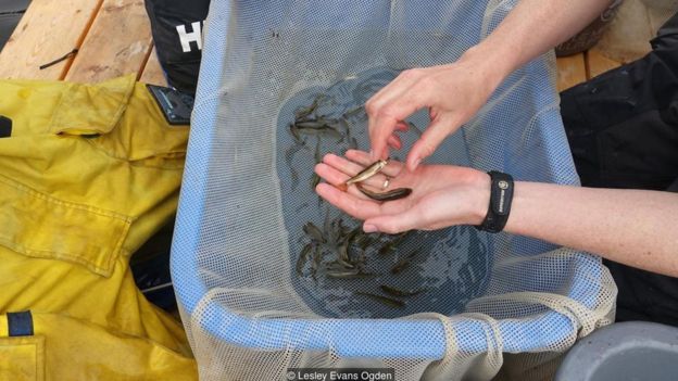
[[[513,201],[513,177],[497,170],[488,172],[490,185],[490,206],[482,224],[476,226],[478,230],[500,232],[506,226],[511,202]]]

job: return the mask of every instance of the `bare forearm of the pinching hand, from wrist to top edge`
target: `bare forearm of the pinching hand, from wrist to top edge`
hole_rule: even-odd
[[[610,3],[611,0],[522,0],[490,36],[465,55],[490,62],[503,79],[583,29]]]

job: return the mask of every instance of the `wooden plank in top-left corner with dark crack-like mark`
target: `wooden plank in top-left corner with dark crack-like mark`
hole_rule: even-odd
[[[102,0],[33,0],[0,53],[0,78],[62,79],[73,58],[39,66],[79,48]]]

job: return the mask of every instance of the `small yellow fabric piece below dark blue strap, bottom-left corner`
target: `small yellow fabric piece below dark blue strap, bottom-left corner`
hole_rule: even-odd
[[[43,381],[45,338],[0,338],[0,380]]]

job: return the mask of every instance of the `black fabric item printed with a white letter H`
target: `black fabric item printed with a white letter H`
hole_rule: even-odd
[[[158,59],[170,86],[196,93],[210,0],[146,0]]]

